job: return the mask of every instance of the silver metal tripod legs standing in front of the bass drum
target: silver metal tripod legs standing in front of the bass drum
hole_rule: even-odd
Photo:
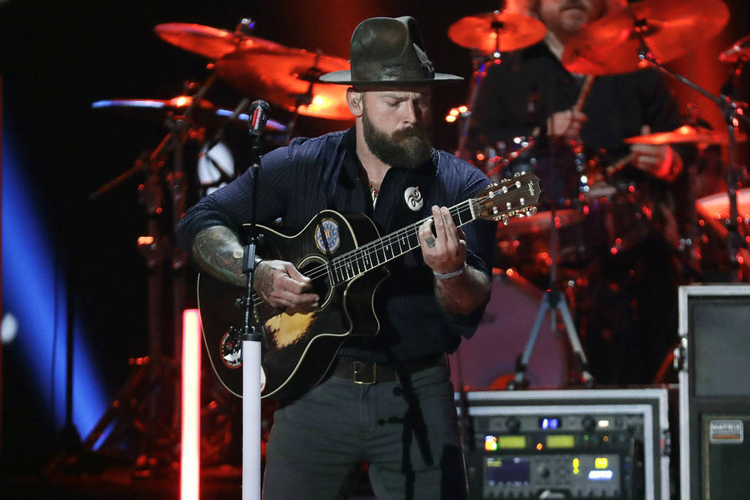
[[[562,300],[561,300],[562,299]],[[534,326],[531,329],[529,340],[526,341],[526,348],[523,349],[523,355],[520,355],[516,360],[516,374],[511,382],[508,382],[508,389],[511,391],[514,389],[526,388],[529,385],[529,381],[526,379],[526,368],[529,366],[529,359],[534,350],[536,339],[539,335],[539,328],[541,328],[541,322],[544,320],[544,316],[547,311],[551,311],[552,316],[552,328],[555,325],[555,312],[559,311],[562,315],[562,322],[565,324],[565,331],[568,334],[568,340],[570,341],[571,348],[575,353],[578,364],[580,366],[580,381],[583,382],[586,387],[591,388],[594,384],[594,379],[589,373],[589,362],[586,360],[586,354],[583,352],[583,347],[580,345],[578,335],[573,325],[573,319],[568,310],[568,304],[565,303],[565,298],[560,292],[547,290],[541,298],[539,304],[539,310],[536,313],[536,319],[534,320]]]

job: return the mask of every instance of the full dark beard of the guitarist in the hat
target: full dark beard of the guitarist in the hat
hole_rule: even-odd
[[[386,165],[416,169],[430,159],[432,146],[429,130],[409,127],[396,130],[389,136],[388,133],[375,127],[369,120],[367,112],[362,115],[362,118],[362,132],[368,148]]]

